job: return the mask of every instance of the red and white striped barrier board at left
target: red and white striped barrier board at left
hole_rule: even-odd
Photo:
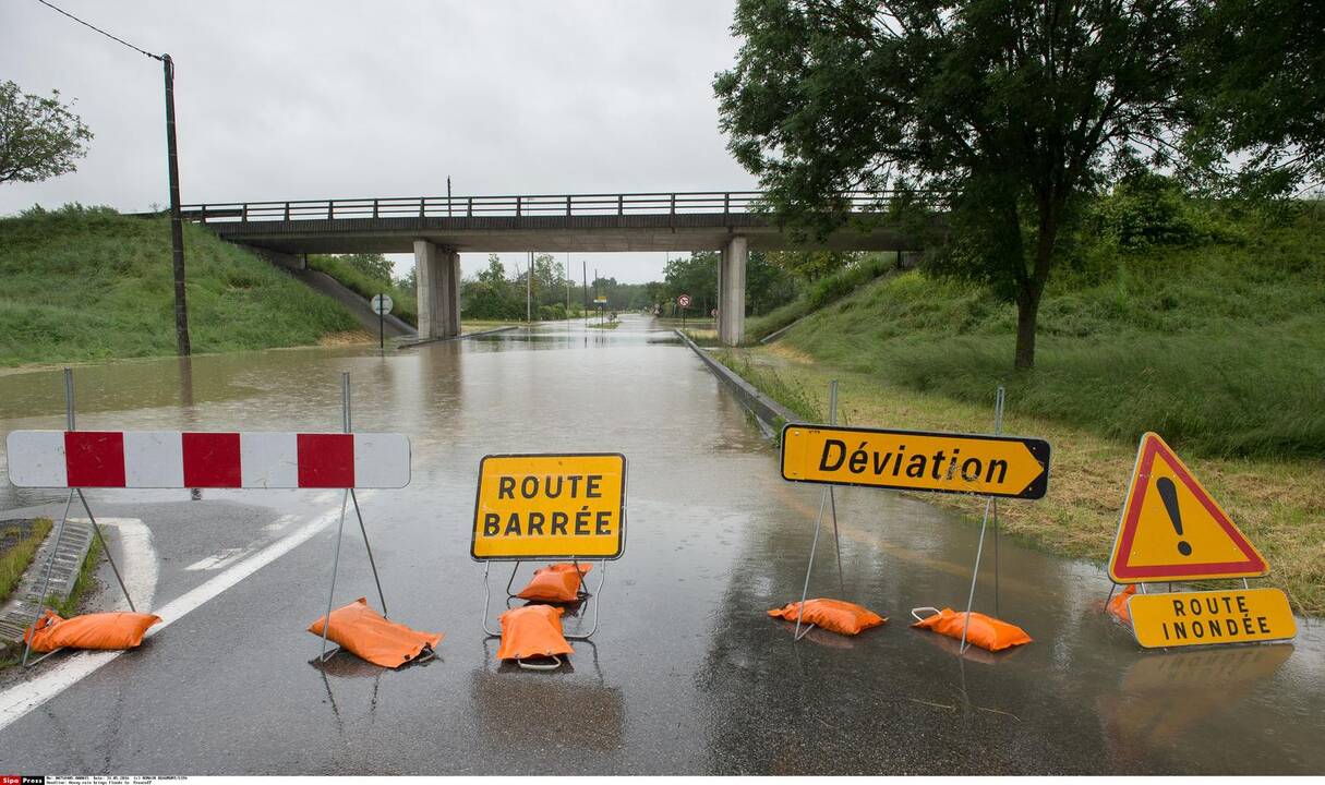
[[[399,433],[15,430],[9,482],[24,488],[403,488]]]

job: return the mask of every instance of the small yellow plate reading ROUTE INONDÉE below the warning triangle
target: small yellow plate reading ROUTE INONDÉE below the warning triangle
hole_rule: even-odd
[[[1297,634],[1279,589],[1174,592],[1128,598],[1137,643],[1146,649],[1284,641]]]

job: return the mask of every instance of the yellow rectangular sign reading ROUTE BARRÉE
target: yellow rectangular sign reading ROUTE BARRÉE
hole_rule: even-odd
[[[469,555],[476,560],[617,559],[625,549],[625,455],[486,455]]]

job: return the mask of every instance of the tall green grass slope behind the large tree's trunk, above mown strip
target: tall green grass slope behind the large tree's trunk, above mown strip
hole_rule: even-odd
[[[1325,217],[1302,209],[1280,226],[1249,213],[1234,230],[1255,244],[1105,244],[1097,275],[1047,291],[1030,373],[999,360],[1010,304],[918,271],[859,290],[782,340],[963,401],[1003,384],[1023,412],[1121,441],[1155,430],[1206,455],[1325,457]]]

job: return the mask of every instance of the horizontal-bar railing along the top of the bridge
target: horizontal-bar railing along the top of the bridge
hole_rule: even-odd
[[[849,212],[880,212],[896,192],[849,192]],[[533,196],[417,196],[404,199],[318,199],[187,204],[187,220],[299,221],[335,218],[476,218],[488,216],[731,214],[763,212],[761,191],[670,193],[563,193]]]

